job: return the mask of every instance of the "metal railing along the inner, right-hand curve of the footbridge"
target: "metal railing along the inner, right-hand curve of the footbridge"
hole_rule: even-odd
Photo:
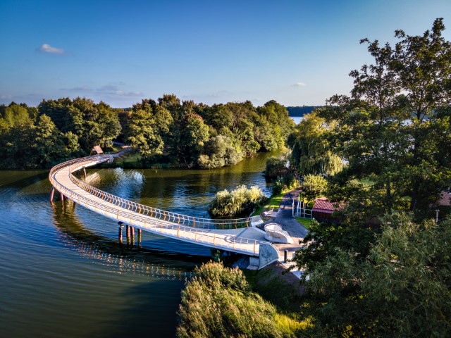
[[[51,169],[50,175],[52,175],[52,173],[54,173],[56,170],[59,170],[69,165],[70,165],[69,168],[70,173],[73,173],[75,170],[83,168],[84,166],[92,165],[92,162],[99,163],[102,161],[106,161],[107,159],[108,158],[106,156],[101,155],[88,156],[85,158],[77,158],[75,160],[70,160],[56,165],[54,168]],[[121,206],[121,208],[125,208],[127,210],[140,213],[142,215],[158,218],[159,220],[167,221],[169,223],[176,223],[178,225],[184,225],[200,229],[229,230],[249,227],[252,221],[254,220],[254,218],[252,217],[212,220],[209,218],[197,218],[188,215],[183,215],[180,213],[173,213],[171,211],[165,211],[159,208],[145,206],[144,204],[138,204],[134,201],[123,199],[108,192],[104,192],[101,189],[92,187],[92,185],[87,184],[86,182],[78,179],[72,174],[70,174],[70,180],[72,180],[73,183],[77,184],[77,186],[80,187],[81,189],[85,190],[86,192],[89,192],[89,194],[93,194],[94,196],[97,196],[98,198],[103,199],[104,201],[108,201],[109,203],[115,204],[116,206]]]

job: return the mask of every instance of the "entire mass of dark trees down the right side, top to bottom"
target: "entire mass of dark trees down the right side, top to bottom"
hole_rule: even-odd
[[[433,217],[451,184],[444,29],[437,19],[421,36],[398,30],[394,47],[362,40],[374,63],[350,73],[351,96],[333,96],[313,115],[321,128],[311,139],[346,165],[326,189],[342,222],[311,223],[295,256],[305,269],[301,312],[316,318],[307,337],[451,335],[451,218]],[[294,150],[308,148],[295,136]],[[299,154],[307,152],[294,161]]]

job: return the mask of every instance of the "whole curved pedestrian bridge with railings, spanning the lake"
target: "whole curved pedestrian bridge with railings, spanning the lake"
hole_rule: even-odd
[[[77,170],[84,170],[111,159],[112,156],[109,155],[94,155],[60,163],[51,168],[49,180],[66,199],[118,223],[193,244],[253,256],[258,258],[259,262],[254,259],[251,263],[260,268],[279,258],[275,246],[252,239],[258,237],[252,236],[252,232],[257,234],[260,231],[254,227],[262,222],[260,216],[211,220],[181,215],[122,199],[92,187],[73,175]],[[245,232],[251,235],[242,236]]]

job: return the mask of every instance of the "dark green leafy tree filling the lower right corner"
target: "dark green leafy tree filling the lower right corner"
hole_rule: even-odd
[[[304,308],[314,312],[316,334],[449,336],[450,240],[451,218],[414,223],[405,213],[390,213],[368,255],[336,248],[321,263],[304,265]]]

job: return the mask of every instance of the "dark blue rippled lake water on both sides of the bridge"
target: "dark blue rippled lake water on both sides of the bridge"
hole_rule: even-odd
[[[92,169],[87,181],[140,203],[207,216],[221,189],[257,184],[271,154],[218,170]],[[180,291],[202,246],[144,233],[117,240],[112,220],[49,203],[48,171],[0,171],[0,337],[173,337]]]

